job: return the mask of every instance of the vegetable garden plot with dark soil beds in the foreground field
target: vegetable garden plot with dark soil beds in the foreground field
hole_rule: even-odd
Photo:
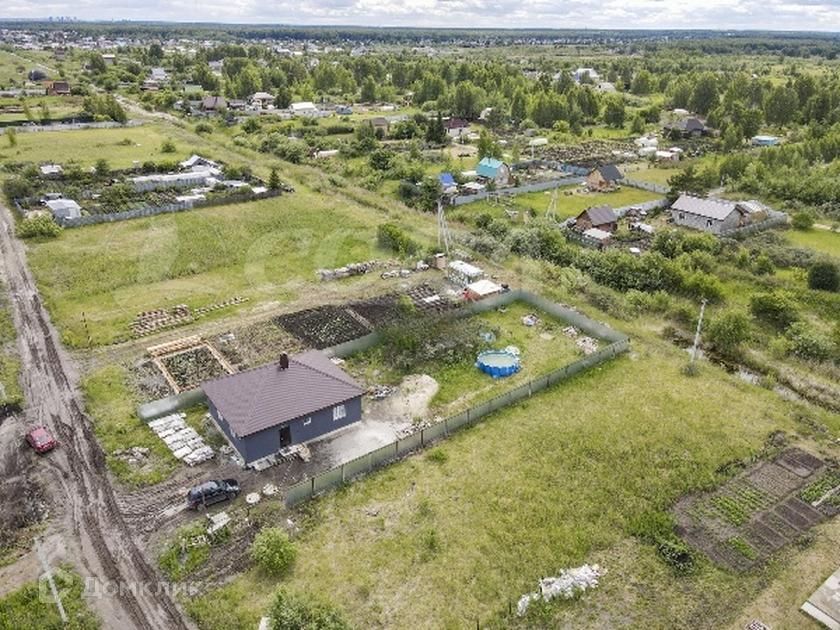
[[[840,512],[840,473],[798,448],[717,490],[681,499],[677,533],[715,563],[746,570]]]

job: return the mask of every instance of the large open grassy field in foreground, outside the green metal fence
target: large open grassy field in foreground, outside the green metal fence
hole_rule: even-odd
[[[701,561],[676,578],[628,530],[720,481],[719,466],[771,431],[807,431],[797,412],[819,412],[709,365],[689,380],[682,351],[635,332],[629,356],[457,435],[443,456],[306,506],[285,585],[331,599],[358,627],[509,627],[500,616],[541,576],[600,562],[604,593],[552,607],[539,627],[731,621],[778,567],[740,576]],[[247,572],[189,608],[202,628],[249,627],[274,586]]]

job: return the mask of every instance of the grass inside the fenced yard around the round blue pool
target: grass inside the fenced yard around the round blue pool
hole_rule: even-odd
[[[522,318],[533,313],[540,318],[536,326],[525,326]],[[418,365],[408,372],[389,370],[383,359],[387,348],[377,346],[350,357],[348,368],[361,374],[371,384],[397,384],[409,373],[423,372],[434,378],[440,389],[432,400],[432,409],[440,415],[452,414],[478,402],[493,398],[553,369],[568,365],[583,356],[574,341],[563,335],[565,322],[555,320],[523,303],[514,303],[504,312],[491,311],[476,315],[482,331],[493,332],[495,340],[489,348],[516,346],[521,351],[522,369],[504,379],[493,379],[475,367],[475,357],[467,356],[452,365]],[[375,376],[374,376],[375,374]]]

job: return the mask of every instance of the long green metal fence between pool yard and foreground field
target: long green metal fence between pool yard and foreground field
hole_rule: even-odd
[[[559,307],[559,305],[554,306]],[[540,308],[546,312],[552,312],[552,309],[545,308],[544,306],[540,306]],[[562,309],[563,307],[559,308]],[[579,313],[575,313],[575,315],[583,317]],[[597,324],[591,320],[587,320],[587,322],[590,330],[602,328],[601,324]],[[575,325],[578,324],[575,323]],[[586,330],[586,332],[590,332],[590,330],[587,330],[583,326],[580,326],[580,328],[582,330]],[[302,503],[321,492],[331,490],[354,478],[371,473],[377,468],[401,459],[409,453],[425,448],[438,440],[442,440],[452,435],[459,429],[470,426],[500,409],[525,400],[526,398],[541,392],[550,385],[566,380],[575,374],[588,370],[589,368],[599,365],[605,361],[609,361],[613,357],[627,351],[630,347],[629,339],[613,330],[606,330],[612,333],[612,337],[617,338],[601,350],[594,352],[589,356],[583,357],[574,363],[570,363],[569,365],[528,381],[519,387],[482,402],[462,413],[445,418],[430,427],[426,427],[421,431],[401,438],[396,442],[388,444],[387,446],[378,448],[375,451],[371,451],[366,455],[362,455],[361,457],[345,462],[335,468],[319,473],[309,479],[304,479],[300,483],[286,489],[286,505],[291,507],[298,503]]]

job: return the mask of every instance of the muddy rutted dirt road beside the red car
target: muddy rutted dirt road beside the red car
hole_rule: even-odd
[[[26,426],[39,423],[48,426],[60,442],[58,449],[38,461],[38,475],[54,511],[47,544],[87,580],[88,599],[102,617],[103,627],[190,628],[120,512],[105,456],[77,390],[76,370],[58,342],[13,229],[9,210],[0,206],[2,264],[12,298],[27,403],[21,417],[6,421],[14,423],[14,431],[4,433],[19,439]],[[19,443],[4,441],[0,444],[4,455],[19,448]]]

